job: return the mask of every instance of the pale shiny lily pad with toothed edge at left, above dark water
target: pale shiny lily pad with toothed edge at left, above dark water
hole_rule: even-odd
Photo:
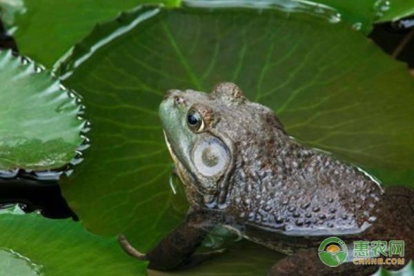
[[[83,141],[75,95],[34,63],[0,52],[0,170],[68,164]]]

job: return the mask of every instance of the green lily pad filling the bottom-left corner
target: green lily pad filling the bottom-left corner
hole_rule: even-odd
[[[46,219],[19,210],[0,214],[0,275],[144,275],[115,237],[88,233],[70,219]]]

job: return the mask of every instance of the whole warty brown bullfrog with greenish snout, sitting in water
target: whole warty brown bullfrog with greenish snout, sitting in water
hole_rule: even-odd
[[[352,253],[337,267],[323,264],[317,248],[332,236],[346,244],[404,240],[406,263],[413,259],[413,191],[384,190],[364,170],[300,144],[273,110],[249,101],[234,83],[210,93],[170,90],[159,115],[190,210],[146,254],[119,235],[126,253],[149,268],[172,270],[221,253],[196,253],[217,225],[286,254],[269,275],[375,272],[353,264]]]

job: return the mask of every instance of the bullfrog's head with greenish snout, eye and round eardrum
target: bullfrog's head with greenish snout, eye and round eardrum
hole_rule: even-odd
[[[273,116],[264,106],[250,103],[233,83],[219,83],[210,94],[168,91],[159,115],[168,149],[192,203],[197,204],[197,194],[203,204],[223,204],[237,146],[246,139],[246,132],[263,130],[266,116],[257,119],[257,115],[269,112]]]

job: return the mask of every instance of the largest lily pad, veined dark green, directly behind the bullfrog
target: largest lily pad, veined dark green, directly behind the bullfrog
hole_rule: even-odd
[[[180,218],[157,115],[170,88],[234,81],[297,139],[382,172],[386,184],[413,184],[414,81],[342,24],[270,10],[142,8],[92,32],[61,70],[92,123],[92,146],[63,195],[88,229],[124,233],[140,250]]]

